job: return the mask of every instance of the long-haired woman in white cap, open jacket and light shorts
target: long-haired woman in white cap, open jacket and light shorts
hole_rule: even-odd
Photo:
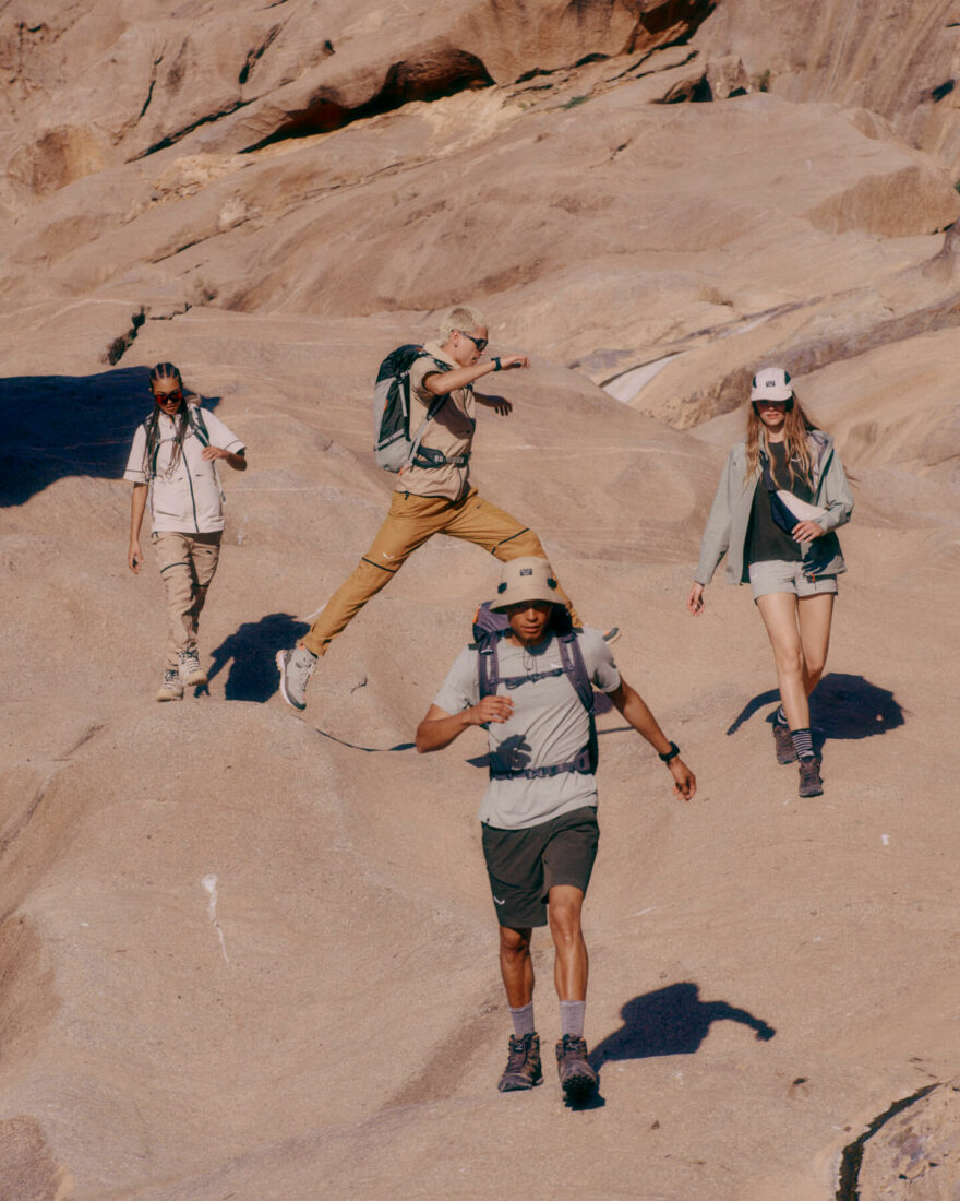
[[[823,674],[836,576],[846,570],[834,530],[852,512],[833,438],[804,413],[786,371],[758,371],[746,438],[727,458],[686,603],[703,613],[703,588],[725,552],[727,580],[749,580],[780,685],[776,761],[799,761],[800,796],[823,791],[808,698]]]

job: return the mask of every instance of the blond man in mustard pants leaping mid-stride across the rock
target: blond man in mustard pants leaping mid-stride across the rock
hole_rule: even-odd
[[[278,652],[281,694],[294,709],[306,709],[307,685],[332,639],[390,582],[409,555],[434,534],[475,543],[503,562],[523,555],[542,557],[544,548],[533,530],[485,501],[470,485],[474,406],[485,405],[504,417],[512,410],[510,401],[475,394],[473,386],[494,371],[529,366],[523,354],[481,358],[486,348],[486,322],[475,309],[458,305],[444,315],[440,340],[427,342],[424,355],[410,368],[412,430],[426,422],[438,398],[446,398],[426,423],[420,443],[430,464],[414,462],[400,472],[390,512],[370,550],[302,641],[293,650]],[[578,626],[570,598],[563,591],[558,594]],[[607,637],[612,640],[617,633],[611,631]]]

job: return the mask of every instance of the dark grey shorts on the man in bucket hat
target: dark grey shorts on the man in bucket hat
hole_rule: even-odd
[[[571,884],[584,896],[590,883],[600,827],[593,805],[526,830],[482,826],[493,908],[502,926],[546,926],[547,894]]]

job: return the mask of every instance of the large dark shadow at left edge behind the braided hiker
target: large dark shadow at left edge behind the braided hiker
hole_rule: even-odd
[[[152,408],[149,382],[149,368],[0,381],[0,508],[25,504],[67,476],[120,479]],[[203,398],[205,408],[218,401]]]

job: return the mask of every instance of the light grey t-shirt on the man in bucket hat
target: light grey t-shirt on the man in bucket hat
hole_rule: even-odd
[[[584,629],[578,640],[592,682],[600,692],[614,692],[620,685],[620,673],[602,635]],[[524,676],[563,665],[556,638],[533,651],[502,639],[497,659],[500,676]],[[565,674],[527,681],[517,688],[499,685],[497,695],[514,701],[512,717],[508,722],[491,722],[487,729],[490,753],[502,764],[551,767],[569,763],[587,745],[590,730],[587,710]],[[468,646],[457,656],[433,704],[448,713],[460,713],[479,700],[476,651]],[[584,805],[596,805],[592,775],[569,771],[545,779],[516,776],[490,781],[478,815],[502,830],[522,830]]]

